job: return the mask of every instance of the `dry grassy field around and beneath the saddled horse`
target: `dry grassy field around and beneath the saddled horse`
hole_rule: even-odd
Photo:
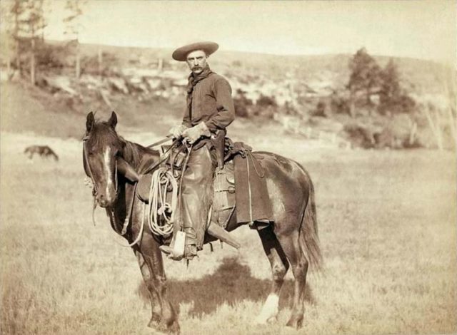
[[[102,210],[91,224],[81,143],[11,133],[0,143],[1,334],[154,334],[134,254]],[[59,163],[26,159],[31,143],[50,144]],[[256,232],[243,227],[240,252],[215,244],[189,269],[166,261],[182,334],[456,333],[455,157],[284,140],[274,150],[284,144],[315,182],[325,259],[308,277],[303,329],[284,326],[291,273],[278,322],[254,325],[271,273]]]

